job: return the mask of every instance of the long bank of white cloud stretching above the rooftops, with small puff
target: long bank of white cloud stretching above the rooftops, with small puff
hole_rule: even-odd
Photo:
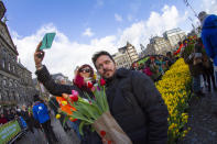
[[[131,26],[126,29],[119,29],[117,34],[91,38],[89,44],[70,42],[69,38],[52,23],[43,25],[39,31],[29,36],[23,37],[17,32],[11,32],[11,34],[18,47],[22,64],[30,69],[33,73],[33,77],[35,77],[33,54],[36,45],[46,32],[56,32],[52,48],[45,52],[43,64],[47,66],[51,74],[63,73],[68,76],[69,79],[73,79],[76,66],[82,64],[90,64],[94,66],[91,63],[94,53],[104,49],[113,54],[119,47],[124,46],[127,41],[139,49],[140,44],[145,45],[149,42],[150,35],[162,34],[165,30],[177,27],[180,23],[185,21],[184,19],[185,18],[181,16],[174,5],[165,5],[161,13],[153,11],[148,20],[132,23]],[[94,33],[88,27],[84,32],[84,35],[93,36]]]

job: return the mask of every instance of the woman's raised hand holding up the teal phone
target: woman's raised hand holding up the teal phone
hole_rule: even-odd
[[[42,42],[39,43],[35,53],[34,53],[34,63],[35,63],[35,67],[40,68],[42,66],[42,60],[44,58],[44,51],[41,51],[40,47],[42,45]]]

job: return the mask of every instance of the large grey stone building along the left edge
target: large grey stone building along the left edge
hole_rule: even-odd
[[[31,71],[18,62],[19,53],[2,21],[4,13],[4,4],[0,1],[0,103],[28,104],[36,90]]]

